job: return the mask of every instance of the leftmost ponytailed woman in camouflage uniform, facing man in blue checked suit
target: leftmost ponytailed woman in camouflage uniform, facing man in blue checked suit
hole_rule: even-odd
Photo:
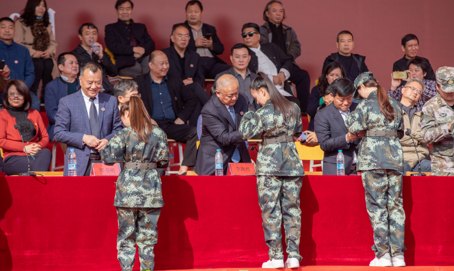
[[[127,127],[100,152],[105,164],[125,163],[113,203],[118,215],[118,259],[122,270],[132,270],[137,243],[141,270],[153,270],[157,222],[164,206],[156,168],[168,165],[167,136],[152,126],[139,97],[124,103],[120,116]]]

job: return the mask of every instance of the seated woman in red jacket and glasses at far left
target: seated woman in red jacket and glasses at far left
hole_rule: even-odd
[[[31,97],[20,80],[11,80],[3,93],[5,109],[0,110],[0,148],[3,148],[6,175],[28,171],[49,171],[52,155],[45,149],[49,143],[46,126],[38,111],[30,109]],[[25,148],[21,140],[25,143]]]

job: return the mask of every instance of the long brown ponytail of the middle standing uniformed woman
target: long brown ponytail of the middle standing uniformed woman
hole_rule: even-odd
[[[292,103],[279,93],[273,82],[263,72],[257,72],[257,77],[251,83],[251,91],[259,89],[265,89],[268,92],[274,110],[277,109],[282,114],[284,121],[288,118],[297,119],[297,112]]]

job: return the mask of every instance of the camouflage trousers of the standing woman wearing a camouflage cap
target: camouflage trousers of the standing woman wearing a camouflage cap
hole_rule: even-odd
[[[402,172],[372,169],[361,173],[367,213],[374,231],[372,250],[378,258],[385,253],[404,255],[405,212]]]

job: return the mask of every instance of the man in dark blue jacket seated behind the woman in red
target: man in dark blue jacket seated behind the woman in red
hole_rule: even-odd
[[[0,60],[5,61],[5,70],[0,79],[4,87],[10,80],[21,80],[28,89],[35,80],[33,60],[27,47],[14,42],[14,21],[8,17],[0,19]],[[9,71],[6,72],[6,71]],[[40,100],[33,93],[31,96],[31,109],[40,111]],[[3,98],[2,98],[3,99]]]

